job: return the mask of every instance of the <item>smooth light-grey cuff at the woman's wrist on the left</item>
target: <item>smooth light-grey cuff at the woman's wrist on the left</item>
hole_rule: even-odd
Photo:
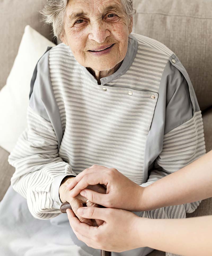
[[[67,174],[58,175],[51,184],[50,195],[53,200],[52,208],[60,209],[61,204],[63,204],[59,197],[59,188],[60,188],[61,181],[67,176],[76,177],[76,175],[67,175]]]

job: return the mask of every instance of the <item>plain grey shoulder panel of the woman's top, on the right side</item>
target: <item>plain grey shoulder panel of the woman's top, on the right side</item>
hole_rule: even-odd
[[[172,55],[170,59],[172,60],[174,57],[175,56]],[[176,58],[175,60],[175,64],[177,64],[176,67],[178,68],[169,60],[161,78],[158,91],[159,97],[147,136],[144,170],[151,170],[154,160],[160,155],[163,148],[164,134],[192,118],[191,96],[193,96],[193,94],[190,96],[188,93],[188,82],[191,83],[191,81],[188,77],[188,81],[185,79],[184,75],[186,75],[187,72],[180,61],[178,62]],[[179,70],[182,70],[184,75],[179,72]],[[191,84],[190,87],[192,91]],[[197,100],[196,104],[198,104]],[[147,176],[147,172],[144,172],[144,180],[147,180]]]

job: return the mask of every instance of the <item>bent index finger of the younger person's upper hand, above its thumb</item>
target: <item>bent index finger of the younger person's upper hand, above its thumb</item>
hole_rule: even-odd
[[[87,188],[88,185],[96,185],[96,184],[99,184],[99,183],[100,184],[104,184],[105,186],[107,186],[107,184],[108,184],[107,173],[105,173],[105,172],[98,172],[98,175],[96,175],[96,173],[86,174],[76,184],[76,186],[72,189],[72,191],[70,191],[70,195],[72,197],[75,197],[75,196],[77,196],[80,193],[80,191],[82,189]]]

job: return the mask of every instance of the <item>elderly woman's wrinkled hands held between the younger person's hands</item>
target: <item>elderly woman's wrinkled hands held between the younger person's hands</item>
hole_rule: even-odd
[[[59,188],[59,196],[60,196],[60,200],[64,203],[65,201],[67,201],[72,209],[73,209],[73,212],[76,214],[76,216],[78,217],[78,219],[83,222],[83,223],[86,223],[90,226],[99,226],[103,223],[102,220],[89,220],[89,219],[86,219],[86,218],[83,218],[81,216],[79,216],[77,214],[77,210],[79,207],[82,207],[83,204],[86,203],[87,199],[84,197],[84,196],[81,196],[80,194],[77,195],[77,196],[70,196],[70,190],[68,190],[66,188],[67,184],[70,183],[71,180],[74,180],[75,177],[67,177],[66,179],[64,179],[64,181],[61,183],[60,185],[60,188]],[[94,190],[95,192],[98,192],[98,193],[106,193],[106,189],[101,186],[100,184],[99,185],[89,185],[88,186],[89,189],[92,189]],[[92,202],[88,202],[86,204],[87,206],[89,207],[98,207],[98,204],[95,204],[95,203],[92,203]]]

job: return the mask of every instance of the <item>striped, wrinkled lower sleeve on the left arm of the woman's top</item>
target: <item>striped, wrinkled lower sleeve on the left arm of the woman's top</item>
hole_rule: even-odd
[[[61,212],[52,208],[52,181],[61,174],[74,173],[58,154],[58,142],[51,123],[30,106],[27,109],[27,123],[28,127],[8,157],[8,162],[16,168],[11,186],[27,199],[29,210],[35,218],[56,217]]]

